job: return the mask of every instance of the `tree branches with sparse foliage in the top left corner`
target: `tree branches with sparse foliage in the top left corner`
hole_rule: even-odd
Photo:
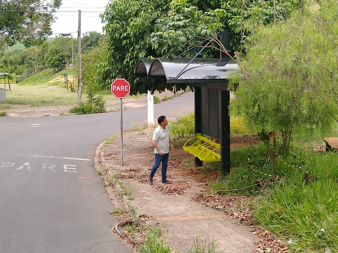
[[[60,6],[61,0],[1,0],[0,52],[17,41],[40,45],[52,33],[53,12]]]

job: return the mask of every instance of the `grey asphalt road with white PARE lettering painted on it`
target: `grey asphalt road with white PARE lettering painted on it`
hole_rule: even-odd
[[[193,93],[154,105],[154,115],[194,110]],[[147,107],[123,111],[124,129],[142,124]],[[0,119],[0,252],[131,252],[111,232],[94,149],[120,131],[120,112]],[[124,157],[124,160],[131,158]]]

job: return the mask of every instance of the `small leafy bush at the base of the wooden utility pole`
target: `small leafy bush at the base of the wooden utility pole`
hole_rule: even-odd
[[[82,103],[81,106],[74,106],[69,110],[70,113],[76,114],[92,114],[104,112],[105,101],[102,95],[95,96],[93,90],[87,90],[87,102]]]

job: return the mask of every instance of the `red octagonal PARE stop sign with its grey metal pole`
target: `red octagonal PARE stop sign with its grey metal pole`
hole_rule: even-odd
[[[124,78],[117,78],[111,84],[111,92],[113,95],[120,99],[120,112],[121,112],[121,165],[123,165],[123,124],[122,124],[122,99],[124,99],[130,92],[130,84]]]

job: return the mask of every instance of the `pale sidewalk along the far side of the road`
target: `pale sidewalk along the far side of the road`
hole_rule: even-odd
[[[177,92],[177,95],[184,93],[184,91]],[[165,97],[172,97],[175,94],[170,91],[165,91],[162,93],[155,92],[160,100]],[[122,99],[122,108],[123,110],[139,108],[142,106],[147,106],[147,95],[144,95],[139,98],[126,97]],[[69,110],[72,106],[39,106],[39,107],[29,107],[27,105],[13,105],[12,109],[2,110],[7,113],[8,117],[41,117],[41,116],[58,116],[58,115],[67,115],[70,114]],[[105,105],[106,112],[115,112],[120,110],[120,100],[111,100],[107,101]]]

